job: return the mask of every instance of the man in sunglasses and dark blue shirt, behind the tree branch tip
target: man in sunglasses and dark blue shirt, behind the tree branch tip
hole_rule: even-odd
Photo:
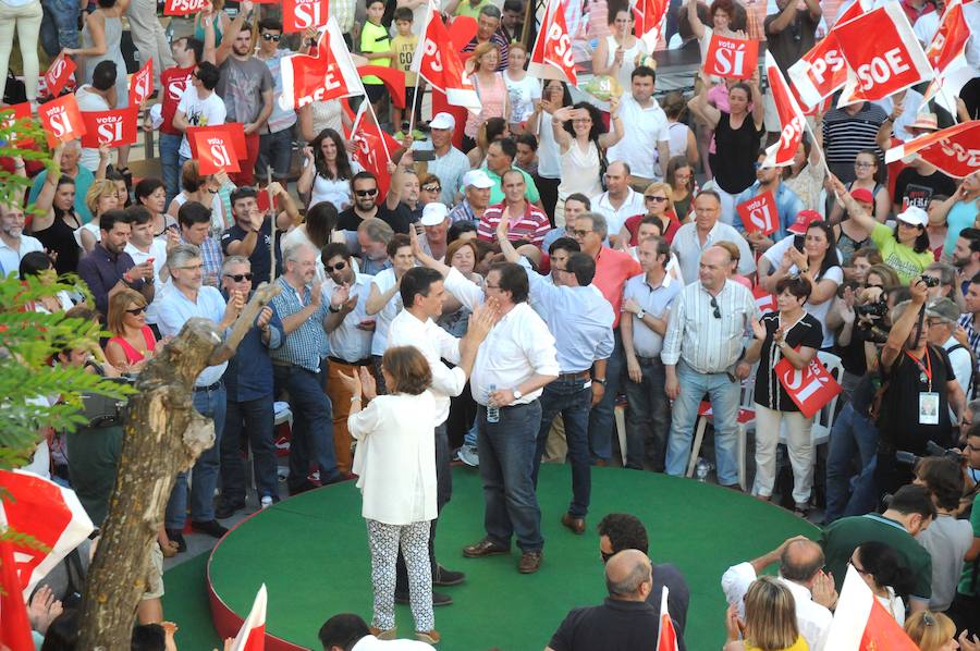
[[[261,282],[261,279],[257,279]],[[231,256],[221,268],[221,288],[226,297],[252,296],[252,263],[243,256]],[[275,469],[274,420],[272,408],[272,360],[269,351],[282,345],[282,321],[270,306],[259,312],[255,324],[238,344],[237,354],[224,371],[228,392],[224,432],[221,434],[221,503],[218,519],[245,507],[245,462],[242,434],[248,437],[255,486],[265,508],[279,499]]]

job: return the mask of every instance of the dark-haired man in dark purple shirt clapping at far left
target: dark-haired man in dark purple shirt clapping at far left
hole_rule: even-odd
[[[109,299],[123,290],[136,290],[146,303],[154,300],[154,260],[133,262],[125,253],[130,242],[131,220],[123,210],[109,210],[99,219],[101,241],[91,253],[78,260],[78,275],[88,285],[96,309],[109,314]]]

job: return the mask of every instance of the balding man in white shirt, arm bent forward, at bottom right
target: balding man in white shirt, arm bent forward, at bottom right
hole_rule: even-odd
[[[834,581],[823,572],[823,550],[803,536],[791,538],[755,561],[730,567],[722,576],[722,590],[730,604],[735,604],[745,617],[745,593],[762,570],[780,564],[777,580],[793,594],[796,603],[796,624],[799,635],[813,651],[823,651],[826,635],[834,619],[829,607],[837,599]]]

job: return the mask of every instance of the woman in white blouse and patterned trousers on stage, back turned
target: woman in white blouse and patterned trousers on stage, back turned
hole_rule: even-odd
[[[437,514],[436,400],[427,391],[432,372],[418,348],[395,346],[384,352],[381,374],[388,395],[376,395],[366,367],[353,378],[340,376],[353,394],[347,429],[357,441],[353,471],[364,499],[360,513],[367,520],[371,550],[371,632],[383,640],[396,637],[395,561],[401,549],[408,569],[415,637],[434,644],[440,636],[432,613],[429,528]],[[362,410],[364,400],[370,402]]]

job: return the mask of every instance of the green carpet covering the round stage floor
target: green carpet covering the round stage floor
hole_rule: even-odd
[[[467,580],[445,589],[454,605],[436,611],[443,650],[543,649],[569,609],[600,603],[605,586],[595,524],[610,512],[640,517],[653,561],[674,563],[686,576],[691,603],[685,639],[693,651],[716,649],[724,641],[719,580],[726,567],[791,536],[817,532],[781,508],[712,484],[596,468],[589,531],[578,537],[559,521],[571,496],[569,469],[546,465],[538,490],[544,563],[539,573],[525,576],[516,570],[516,546],[511,556],[462,556],[461,548],[483,533],[483,500],[477,471],[456,468],[454,482],[437,550],[440,561],[466,572]],[[355,612],[370,621],[369,575],[360,495],[351,482],[305,493],[253,517],[221,543],[211,563],[215,587],[235,612],[248,612],[265,581],[267,630],[311,649],[319,649],[317,630],[333,614]],[[181,627],[181,648],[212,648],[217,636],[209,622],[203,563],[181,565],[166,580],[166,613]],[[397,621],[402,637],[411,637],[407,606],[399,606]]]

